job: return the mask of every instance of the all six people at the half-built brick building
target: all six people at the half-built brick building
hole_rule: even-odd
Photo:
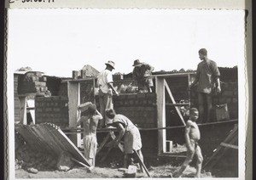
[[[185,127],[187,158],[183,162],[181,168],[173,173],[173,177],[180,177],[182,175],[194,155],[197,157],[195,177],[201,176],[203,157],[201,155],[201,148],[198,145],[201,136],[196,121],[199,120],[199,122],[203,122],[203,120],[210,120],[212,89],[216,88],[218,93],[221,91],[219,82],[220,74],[216,63],[207,58],[207,49],[201,48],[198,53],[201,63],[197,66],[195,81],[189,86],[189,89],[198,83],[199,110],[196,108],[191,108],[189,110],[189,121],[186,122]],[[106,69],[102,70],[97,78],[100,112],[96,110],[96,104],[90,104],[88,106],[88,115],[79,117],[77,126],[80,126],[83,123],[84,155],[86,159],[90,161],[92,166],[95,166],[96,158],[96,128],[108,126],[116,127],[119,135],[113,140],[111,145],[113,147],[117,146],[121,139],[124,138],[124,166],[127,168],[131,162],[131,155],[134,151],[137,151],[140,159],[143,161],[143,154],[141,151],[143,146],[142,139],[137,126],[135,126],[125,115],[116,114],[113,110],[113,94],[119,95],[119,92],[113,87],[112,70],[114,69],[114,63],[113,61],[108,61],[105,65]],[[144,88],[147,87],[148,92],[152,93],[152,87],[154,85],[150,76],[152,75],[154,67],[146,63],[141,63],[138,59],[134,61],[133,66],[134,70],[132,74],[137,81],[139,91],[143,91]],[[207,106],[206,115],[204,115],[205,106]]]

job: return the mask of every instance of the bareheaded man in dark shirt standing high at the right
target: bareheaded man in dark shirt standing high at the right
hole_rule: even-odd
[[[189,89],[198,82],[199,122],[209,122],[212,110],[212,89],[216,88],[217,93],[221,92],[220,73],[217,64],[208,59],[207,49],[201,48],[198,53],[201,62],[197,66],[195,81],[190,85]],[[207,110],[205,110],[204,104],[207,104]]]

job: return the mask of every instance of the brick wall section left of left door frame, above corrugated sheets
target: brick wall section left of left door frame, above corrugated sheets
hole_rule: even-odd
[[[36,97],[36,124],[51,122],[59,127],[68,127],[68,98],[61,96]]]

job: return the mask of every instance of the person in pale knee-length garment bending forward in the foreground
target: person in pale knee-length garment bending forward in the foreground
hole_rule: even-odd
[[[108,126],[116,127],[119,132],[119,135],[113,139],[112,144],[109,146],[118,146],[121,139],[124,137],[124,167],[127,168],[129,165],[131,165],[131,157],[134,150],[137,151],[137,154],[143,161],[143,153],[141,150],[143,143],[138,128],[125,115],[116,115],[113,109],[106,110],[106,115],[112,120],[111,123],[108,123]],[[142,167],[141,169],[143,170]]]

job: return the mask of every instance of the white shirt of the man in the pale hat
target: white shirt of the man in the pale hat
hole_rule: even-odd
[[[108,83],[113,82],[112,72],[110,70],[102,70],[98,76],[98,86],[102,90],[102,93],[108,93],[111,89],[108,87]]]

